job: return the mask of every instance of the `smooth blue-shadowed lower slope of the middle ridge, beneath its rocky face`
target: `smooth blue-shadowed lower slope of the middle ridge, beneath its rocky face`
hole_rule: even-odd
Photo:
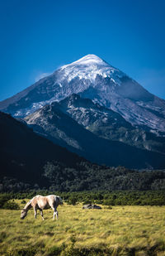
[[[87,100],[92,104],[91,100]],[[42,136],[46,136],[51,141],[67,147],[68,150],[98,164],[115,167],[120,165],[139,169],[147,167],[163,168],[165,166],[163,154],[130,147],[123,142],[99,138],[83,128],[68,114],[64,114],[60,108],[60,103],[46,105],[27,116],[25,118],[26,123]],[[121,119],[121,123],[126,123],[125,119],[121,118],[119,114],[113,114]],[[130,126],[129,123],[128,126]]]

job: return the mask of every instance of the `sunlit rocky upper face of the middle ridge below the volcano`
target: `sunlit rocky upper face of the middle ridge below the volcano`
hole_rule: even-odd
[[[83,99],[78,94],[72,94],[59,103],[54,103],[54,106],[101,138],[165,153],[165,138],[134,128],[120,114],[94,104],[91,99]]]

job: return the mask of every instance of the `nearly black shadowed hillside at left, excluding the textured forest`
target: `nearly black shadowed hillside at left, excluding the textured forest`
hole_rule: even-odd
[[[42,138],[8,114],[0,112],[0,176],[46,186],[43,176],[46,162],[55,161],[66,167],[87,162],[63,147]]]

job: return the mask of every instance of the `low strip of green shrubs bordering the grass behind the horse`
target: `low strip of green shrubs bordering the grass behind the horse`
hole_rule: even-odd
[[[27,199],[36,195],[47,196],[54,194],[61,196],[65,203],[77,205],[78,203],[100,204],[100,205],[165,205],[165,191],[22,191],[17,193],[0,194],[0,208],[17,209],[14,205],[15,199],[21,199],[22,204],[26,204]]]

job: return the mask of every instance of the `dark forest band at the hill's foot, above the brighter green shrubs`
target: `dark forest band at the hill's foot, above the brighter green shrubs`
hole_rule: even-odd
[[[125,167],[98,166],[80,162],[66,167],[60,162],[46,162],[38,183],[28,183],[10,176],[0,177],[0,192],[49,191],[159,191],[165,190],[165,171],[130,170]]]

